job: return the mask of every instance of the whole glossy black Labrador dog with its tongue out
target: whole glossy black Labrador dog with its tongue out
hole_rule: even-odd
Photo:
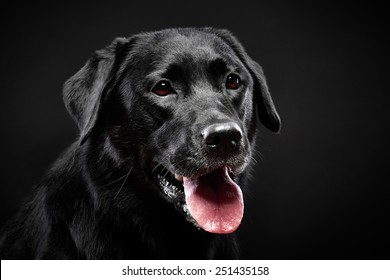
[[[225,30],[116,39],[64,86],[80,138],[1,239],[6,259],[237,258],[261,67]]]

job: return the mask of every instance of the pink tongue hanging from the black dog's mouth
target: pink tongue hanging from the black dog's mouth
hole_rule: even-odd
[[[244,214],[244,201],[226,167],[198,178],[184,177],[183,185],[188,210],[202,229],[212,233],[237,229]]]

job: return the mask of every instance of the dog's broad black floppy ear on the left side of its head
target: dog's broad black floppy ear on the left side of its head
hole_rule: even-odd
[[[130,39],[116,38],[96,51],[63,87],[65,106],[80,129],[80,145],[91,133],[102,103],[120,76]]]

